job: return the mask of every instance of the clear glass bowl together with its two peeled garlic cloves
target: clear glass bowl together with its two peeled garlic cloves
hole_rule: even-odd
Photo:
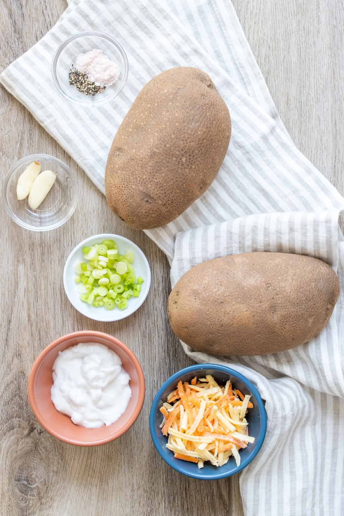
[[[60,227],[76,208],[76,181],[60,159],[32,154],[20,159],[3,183],[7,213],[22,228],[50,231]]]

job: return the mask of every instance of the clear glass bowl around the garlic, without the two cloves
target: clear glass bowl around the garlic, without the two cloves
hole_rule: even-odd
[[[32,210],[28,198],[17,199],[18,178],[30,163],[37,161],[43,170],[57,174],[55,183],[37,209]],[[22,228],[31,231],[50,231],[59,228],[73,215],[76,208],[76,181],[70,168],[47,154],[32,154],[15,163],[3,183],[6,210]]]

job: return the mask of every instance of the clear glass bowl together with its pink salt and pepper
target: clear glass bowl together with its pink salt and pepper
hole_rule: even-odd
[[[58,47],[52,74],[57,90],[69,101],[99,105],[122,91],[128,59],[116,39],[87,31],[71,36]]]

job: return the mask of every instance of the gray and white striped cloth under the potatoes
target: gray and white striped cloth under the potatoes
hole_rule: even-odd
[[[85,109],[55,90],[52,57],[83,30],[116,37],[129,60],[117,99]],[[193,265],[232,253],[317,256],[337,271],[341,295],[312,341],[283,353],[221,359],[250,378],[266,400],[267,437],[242,471],[248,516],[344,514],[344,199],[293,145],[229,0],[73,0],[53,29],[1,75],[19,99],[104,192],[114,134],[140,89],[163,70],[207,72],[230,109],[233,130],[209,190],[163,228],[146,231],[166,253],[172,286]]]

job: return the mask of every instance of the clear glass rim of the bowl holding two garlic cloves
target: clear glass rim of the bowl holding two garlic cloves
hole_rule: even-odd
[[[67,174],[69,175],[69,178],[70,178],[70,180],[73,184],[73,188],[74,188],[73,201],[72,201],[72,204],[71,204],[67,214],[61,220],[59,220],[58,223],[51,224],[47,227],[39,227],[39,228],[32,227],[29,224],[26,224],[25,222],[23,222],[22,219],[20,219],[17,215],[15,215],[15,213],[13,212],[13,210],[11,209],[11,207],[9,206],[9,204],[7,202],[7,185],[8,185],[8,182],[9,182],[12,174],[14,173],[14,171],[21,165],[24,165],[25,163],[29,163],[32,161],[36,161],[36,159],[48,159],[48,160],[55,162],[59,167],[63,168],[63,170],[65,172],[67,172]],[[63,225],[65,222],[67,222],[67,220],[69,220],[71,218],[71,216],[73,215],[73,213],[75,212],[75,208],[77,205],[75,175],[67,164],[65,164],[61,159],[56,158],[55,156],[51,156],[50,154],[30,154],[29,156],[25,156],[25,157],[19,159],[17,162],[13,163],[9,172],[6,174],[5,179],[3,180],[2,196],[3,196],[4,203],[5,203],[6,212],[8,213],[8,215],[11,217],[11,219],[16,224],[20,225],[22,228],[27,229],[29,231],[36,231],[36,232],[52,231],[53,229],[60,228],[61,225]]]

